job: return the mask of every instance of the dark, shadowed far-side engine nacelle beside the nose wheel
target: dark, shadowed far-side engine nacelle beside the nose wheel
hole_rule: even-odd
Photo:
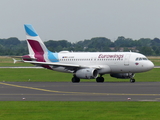
[[[134,73],[113,73],[110,74],[110,76],[115,78],[128,79],[134,77]]]

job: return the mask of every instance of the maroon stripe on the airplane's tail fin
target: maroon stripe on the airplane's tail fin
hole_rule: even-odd
[[[35,55],[34,57],[37,59],[39,62],[46,62],[44,59],[44,51],[43,48],[41,47],[40,43],[35,40],[29,40],[28,43],[30,44],[32,50],[34,51]]]

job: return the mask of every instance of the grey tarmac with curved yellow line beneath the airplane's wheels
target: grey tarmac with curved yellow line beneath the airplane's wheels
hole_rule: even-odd
[[[0,101],[160,101],[160,82],[0,82]]]

